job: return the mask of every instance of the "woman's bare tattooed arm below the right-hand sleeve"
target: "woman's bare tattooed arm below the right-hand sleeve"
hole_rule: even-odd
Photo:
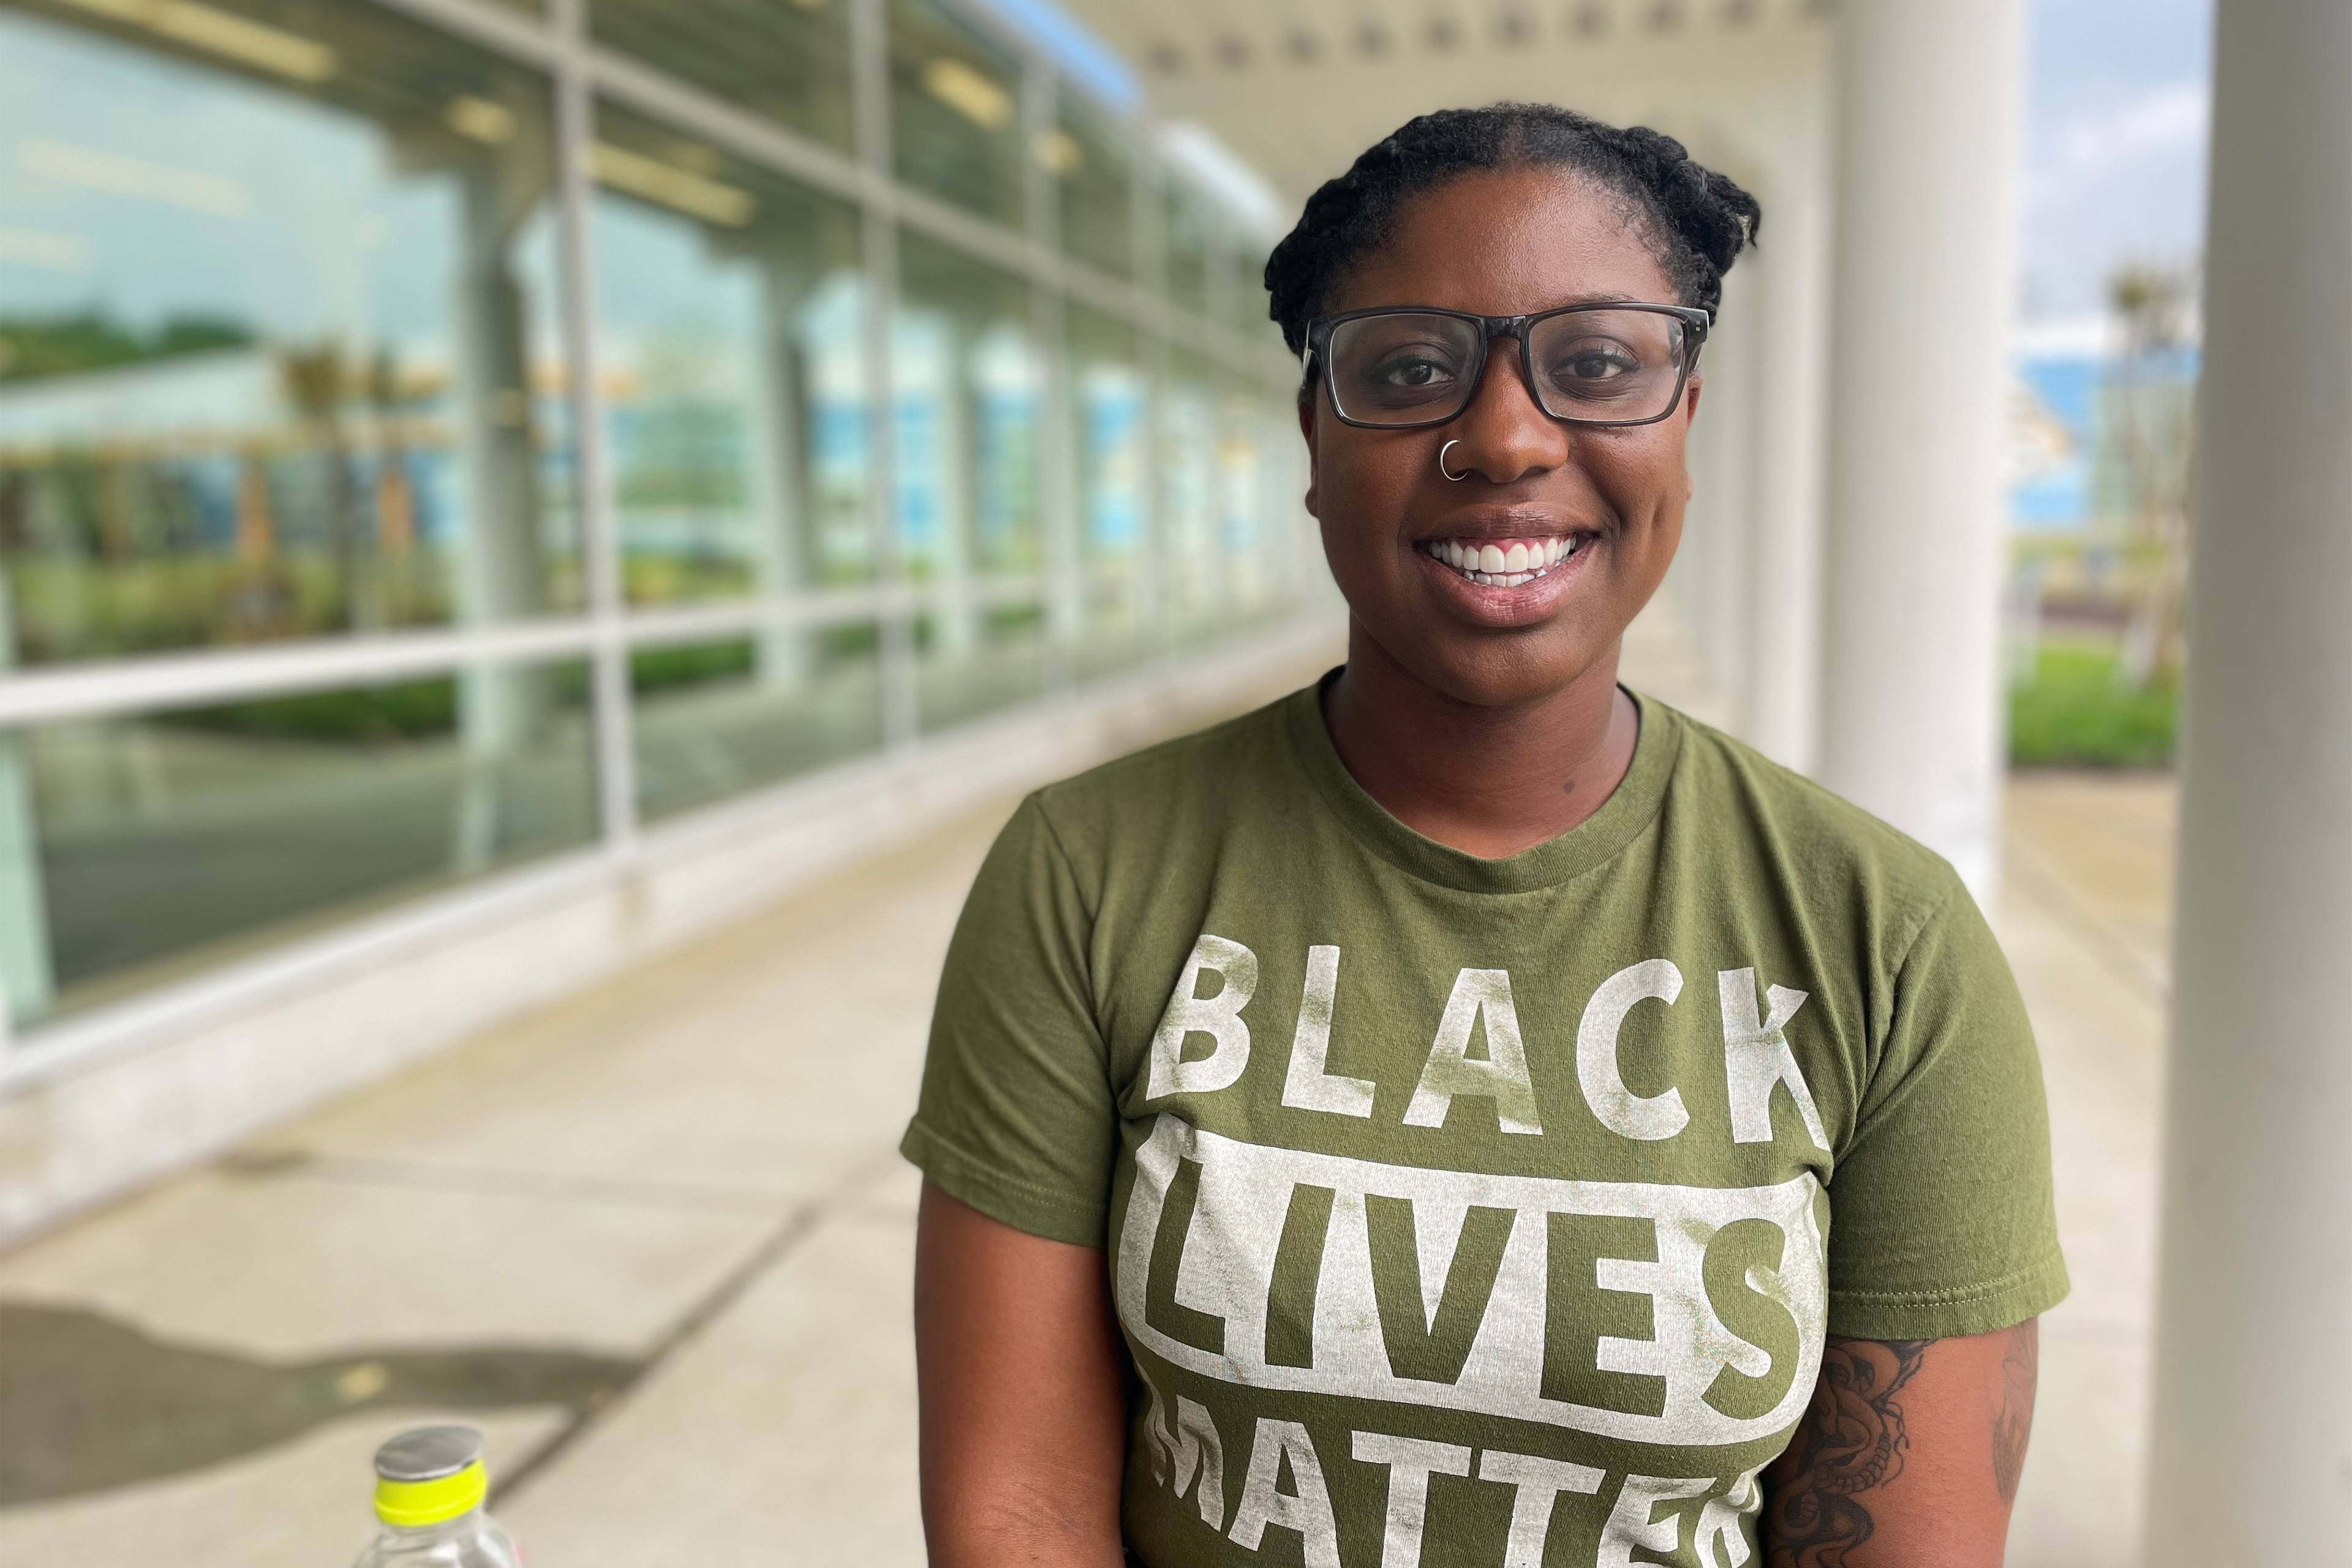
[[[1830,1338],[1764,1476],[1766,1568],[1997,1568],[2034,1418],[2037,1321]]]

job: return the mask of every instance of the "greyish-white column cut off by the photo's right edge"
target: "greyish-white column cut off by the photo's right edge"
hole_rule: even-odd
[[[2220,0],[2147,1561],[2352,1563],[2352,7]]]

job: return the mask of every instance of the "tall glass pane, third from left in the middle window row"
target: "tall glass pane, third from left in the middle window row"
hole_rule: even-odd
[[[901,235],[891,397],[906,574],[953,595],[974,576],[1037,571],[1044,364],[1028,284]]]

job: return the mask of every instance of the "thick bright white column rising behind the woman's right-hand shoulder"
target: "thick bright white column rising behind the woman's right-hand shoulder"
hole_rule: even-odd
[[[2020,0],[1842,9],[1820,778],[1983,898]]]

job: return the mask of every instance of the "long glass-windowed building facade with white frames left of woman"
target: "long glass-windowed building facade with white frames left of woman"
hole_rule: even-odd
[[[0,5],[0,1072],[1294,616],[1160,146],[938,0]]]

